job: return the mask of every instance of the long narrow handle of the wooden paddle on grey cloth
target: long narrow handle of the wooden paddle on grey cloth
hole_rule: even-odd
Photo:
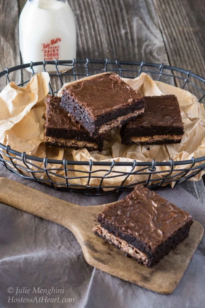
[[[78,225],[76,212],[83,207],[62,201],[7,178],[0,178],[0,202],[64,225],[72,230]]]

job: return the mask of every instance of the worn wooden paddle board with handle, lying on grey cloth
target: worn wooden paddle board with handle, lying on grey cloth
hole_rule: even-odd
[[[86,261],[108,274],[155,292],[170,294],[182,278],[203,237],[203,227],[194,221],[189,237],[158,264],[146,268],[122,251],[94,235],[98,213],[106,205],[79,206],[41,193],[6,178],[0,178],[0,202],[56,222],[70,229],[82,247]],[[8,194],[9,192],[9,194]],[[23,196],[23,198],[22,198]]]

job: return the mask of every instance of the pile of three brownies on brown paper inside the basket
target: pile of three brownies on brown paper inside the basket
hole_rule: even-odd
[[[74,81],[61,98],[48,97],[47,145],[102,151],[113,128],[121,128],[122,144],[179,143],[184,134],[175,95],[144,97],[114,73]]]

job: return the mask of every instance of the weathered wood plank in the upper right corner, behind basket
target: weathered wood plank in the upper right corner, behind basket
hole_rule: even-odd
[[[191,70],[204,77],[205,2],[201,0],[154,0],[154,3],[170,64]],[[175,75],[186,78],[184,74],[175,73]],[[192,77],[190,80],[205,91],[204,83]],[[181,87],[183,81],[178,80],[177,84]],[[185,89],[195,94],[198,99],[203,95],[189,84]],[[203,103],[205,104],[205,99]]]

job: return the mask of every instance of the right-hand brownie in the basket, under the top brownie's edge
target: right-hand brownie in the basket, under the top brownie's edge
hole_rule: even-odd
[[[121,129],[122,144],[180,143],[184,129],[176,96],[145,96],[144,99],[144,113]]]

